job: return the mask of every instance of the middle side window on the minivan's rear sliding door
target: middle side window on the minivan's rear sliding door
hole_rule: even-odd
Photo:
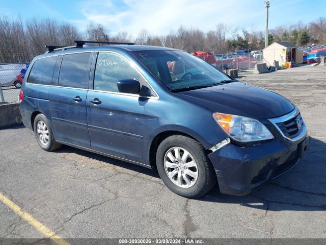
[[[64,55],[61,63],[58,86],[87,88],[91,53]]]

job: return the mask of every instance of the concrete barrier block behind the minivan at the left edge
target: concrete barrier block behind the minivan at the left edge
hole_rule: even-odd
[[[22,125],[19,103],[0,104],[0,129]]]

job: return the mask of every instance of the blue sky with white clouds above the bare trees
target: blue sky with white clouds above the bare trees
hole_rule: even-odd
[[[0,13],[28,19],[51,17],[76,24],[84,31],[89,21],[110,32],[127,31],[137,37],[141,29],[162,35],[185,27],[214,30],[216,24],[264,30],[264,0],[0,0]],[[269,27],[326,17],[325,0],[270,0]]]

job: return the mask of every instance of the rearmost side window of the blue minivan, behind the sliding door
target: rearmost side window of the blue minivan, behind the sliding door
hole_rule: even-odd
[[[28,83],[51,85],[53,69],[55,68],[57,56],[38,59],[31,69]]]

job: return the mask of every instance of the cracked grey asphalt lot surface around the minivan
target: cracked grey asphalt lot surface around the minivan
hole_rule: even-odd
[[[244,197],[216,187],[185,199],[152,170],[68,146],[42,151],[23,127],[0,131],[0,194],[63,238],[326,238],[326,67],[251,73],[239,80],[298,106],[311,144],[288,173]],[[0,237],[45,235],[0,201]]]

